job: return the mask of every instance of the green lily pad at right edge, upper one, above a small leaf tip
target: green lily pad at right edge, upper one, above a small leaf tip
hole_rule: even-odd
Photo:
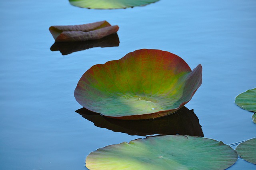
[[[244,110],[256,112],[256,88],[236,96],[235,103]]]

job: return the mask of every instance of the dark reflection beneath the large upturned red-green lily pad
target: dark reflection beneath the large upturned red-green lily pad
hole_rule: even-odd
[[[150,120],[118,120],[107,118],[86,108],[76,110],[87,120],[100,128],[107,128],[114,132],[127,133],[129,135],[148,136],[154,134],[180,134],[190,136],[204,136],[202,126],[194,114],[193,109],[185,106],[174,114],[162,118]]]

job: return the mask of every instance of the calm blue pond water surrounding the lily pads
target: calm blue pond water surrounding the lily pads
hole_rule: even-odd
[[[203,66],[203,83],[186,104],[206,138],[232,144],[256,136],[252,112],[234,98],[256,86],[256,1],[160,0],[143,7],[92,10],[68,0],[0,2],[0,169],[86,170],[86,156],[144,138],[99,128],[75,112],[74,89],[95,64],[141,48],[160,49]],[[52,25],[107,20],[119,46],[62,56],[51,51]],[[234,147],[235,148],[235,147]],[[242,159],[230,170],[253,170]]]

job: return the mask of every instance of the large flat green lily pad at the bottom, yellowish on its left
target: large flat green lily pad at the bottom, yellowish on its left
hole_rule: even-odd
[[[224,170],[238,156],[230,146],[194,136],[150,136],[100,148],[86,158],[90,170]]]

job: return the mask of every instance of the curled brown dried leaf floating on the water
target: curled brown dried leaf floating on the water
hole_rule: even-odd
[[[56,42],[97,40],[116,33],[118,29],[118,26],[111,26],[106,21],[49,28]]]

